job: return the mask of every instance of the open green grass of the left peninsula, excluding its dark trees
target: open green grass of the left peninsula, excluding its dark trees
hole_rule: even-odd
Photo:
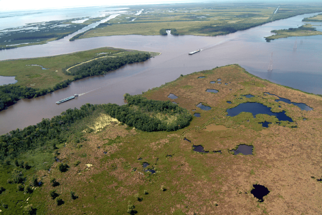
[[[17,59],[0,61],[0,75],[16,76],[17,85],[47,89],[55,84],[73,76],[65,75],[62,70],[72,65],[80,64],[102,56],[121,56],[124,54],[135,54],[136,50],[124,50],[111,47],[92,49],[88,51],[62,54],[50,57]],[[105,54],[100,54],[105,53]],[[153,56],[159,53],[151,53]],[[40,65],[43,66],[28,66]]]

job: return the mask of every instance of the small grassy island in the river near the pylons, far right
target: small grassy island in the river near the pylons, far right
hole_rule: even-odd
[[[315,27],[313,27],[313,25],[311,25],[311,24],[304,24],[298,28],[272,30],[270,32],[275,33],[275,35],[264,37],[266,42],[270,42],[271,40],[275,40],[275,39],[279,39],[279,38],[287,38],[287,37],[291,37],[291,36],[322,35],[322,32],[317,31],[315,29]]]

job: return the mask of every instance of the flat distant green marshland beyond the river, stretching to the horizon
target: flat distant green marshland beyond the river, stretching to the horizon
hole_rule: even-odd
[[[276,9],[277,12],[274,14]],[[134,15],[144,9],[140,15]],[[175,35],[215,36],[245,30],[295,15],[322,11],[321,5],[310,4],[175,4],[133,6],[129,13],[97,26],[78,39],[110,35],[165,35],[165,29],[176,29]],[[129,18],[130,17],[130,18]],[[129,19],[135,18],[133,21]]]

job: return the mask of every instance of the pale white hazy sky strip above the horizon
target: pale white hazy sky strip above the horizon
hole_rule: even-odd
[[[30,10],[43,8],[64,8],[82,6],[141,5],[159,3],[201,2],[202,0],[0,0],[0,11]],[[207,1],[207,0],[206,0]]]

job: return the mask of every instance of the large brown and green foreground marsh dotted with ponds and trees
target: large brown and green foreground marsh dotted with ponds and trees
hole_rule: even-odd
[[[1,213],[322,213],[321,96],[234,64],[125,97],[128,106],[86,104],[0,136]],[[228,116],[227,109],[247,103],[291,120]],[[189,123],[178,130],[126,124],[152,117],[169,125],[180,114]],[[258,187],[265,194],[257,195]]]

